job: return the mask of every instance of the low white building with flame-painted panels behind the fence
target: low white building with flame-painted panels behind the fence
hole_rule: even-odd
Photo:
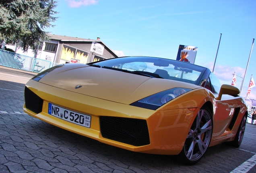
[[[49,36],[49,40],[43,41],[42,45],[38,46],[37,54],[34,54],[31,49],[23,52],[19,45],[6,44],[6,48],[11,48],[18,54],[49,60],[58,64],[89,63],[118,57],[100,38],[91,40],[54,34],[49,34]]]

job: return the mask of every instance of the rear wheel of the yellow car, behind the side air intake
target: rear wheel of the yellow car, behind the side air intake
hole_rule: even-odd
[[[246,127],[246,119],[247,119],[247,116],[244,115],[240,125],[239,125],[239,128],[237,130],[237,133],[235,135],[235,139],[234,141],[230,141],[230,142],[225,142],[224,144],[226,145],[229,145],[231,147],[235,147],[235,148],[238,148],[241,143],[242,143],[242,140],[244,138],[244,131],[245,131],[245,127]]]

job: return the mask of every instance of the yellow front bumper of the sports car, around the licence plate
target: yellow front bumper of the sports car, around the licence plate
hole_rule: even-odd
[[[25,102],[24,111],[29,115],[102,143],[142,153],[179,154],[197,113],[186,108],[164,111],[143,109],[73,93],[33,80],[26,84],[25,100],[27,92],[30,92],[30,96]],[[27,106],[31,97],[41,99],[41,105],[34,104],[39,110]],[[49,102],[90,115],[91,127],[82,127],[48,114]]]

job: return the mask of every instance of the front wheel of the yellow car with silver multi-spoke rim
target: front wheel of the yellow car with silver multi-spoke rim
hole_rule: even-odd
[[[190,128],[184,147],[178,159],[186,165],[192,165],[202,159],[213,134],[211,111],[202,107]]]

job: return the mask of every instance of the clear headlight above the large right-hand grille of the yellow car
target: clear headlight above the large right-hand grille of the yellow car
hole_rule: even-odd
[[[156,93],[139,101],[132,103],[132,106],[156,110],[163,106],[165,103],[175,99],[176,97],[191,91],[192,89],[186,88],[173,88],[160,93]]]

